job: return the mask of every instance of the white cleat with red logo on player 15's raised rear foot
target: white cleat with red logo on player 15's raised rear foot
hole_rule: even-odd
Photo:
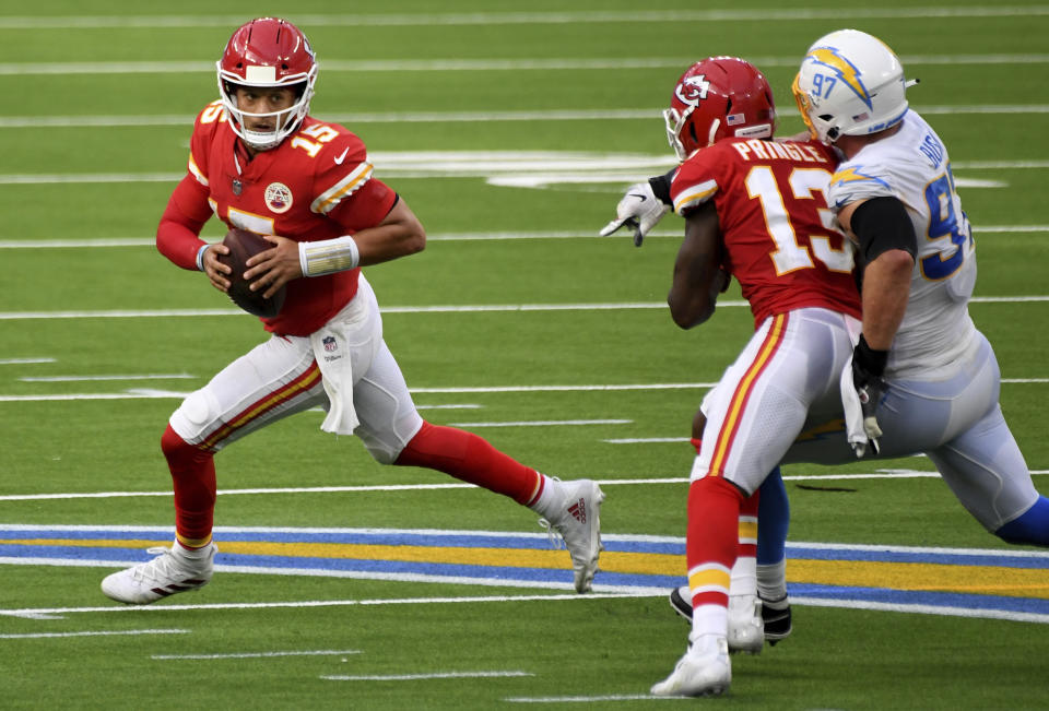
[[[539,523],[547,531],[556,531],[565,540],[576,572],[576,592],[590,592],[593,573],[598,571],[598,557],[604,549],[601,545],[601,501],[604,500],[604,493],[590,479],[551,479],[551,483],[558,487],[562,498]]]

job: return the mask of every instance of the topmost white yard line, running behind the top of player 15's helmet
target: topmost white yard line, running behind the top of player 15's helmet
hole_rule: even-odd
[[[1046,5],[971,8],[885,8],[835,10],[841,20],[932,19],[932,17],[1011,17],[1049,14]],[[296,14],[300,26],[405,27],[432,25],[521,25],[521,24],[604,24],[638,22],[749,22],[824,20],[826,9],[788,10],[649,10],[590,12],[471,12],[471,13],[386,13],[386,14]],[[174,28],[232,27],[244,21],[239,15],[14,15],[0,20],[2,29],[87,29],[87,28]]]

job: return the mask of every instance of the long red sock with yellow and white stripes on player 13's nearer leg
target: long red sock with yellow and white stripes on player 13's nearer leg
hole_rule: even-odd
[[[692,606],[728,607],[729,583],[739,541],[743,493],[721,476],[705,476],[688,487],[685,558]]]

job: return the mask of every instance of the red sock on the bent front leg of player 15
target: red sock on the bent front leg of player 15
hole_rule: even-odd
[[[161,437],[175,487],[175,534],[187,548],[211,543],[215,513],[215,459],[188,443],[168,425]]]

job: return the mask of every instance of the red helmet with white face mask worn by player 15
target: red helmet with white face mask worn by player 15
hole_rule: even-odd
[[[309,112],[317,82],[317,60],[306,35],[286,20],[259,17],[241,25],[229,37],[219,70],[219,92],[234,132],[245,143],[267,151],[291,135]],[[273,131],[248,131],[244,128],[245,111],[237,108],[233,94],[235,85],[291,86],[298,94],[294,106],[270,114],[248,116],[278,116]],[[283,118],[282,118],[283,117]]]

